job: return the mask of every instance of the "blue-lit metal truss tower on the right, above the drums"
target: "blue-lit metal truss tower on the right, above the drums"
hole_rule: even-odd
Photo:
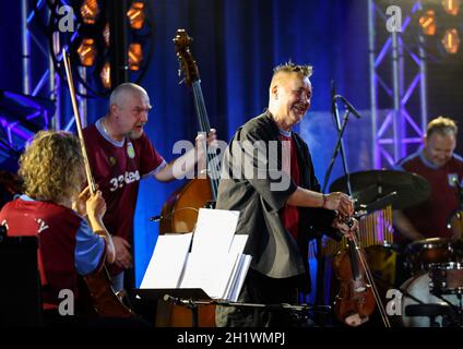
[[[368,0],[375,168],[390,168],[416,148],[428,119],[424,37],[411,24],[412,16],[422,10],[422,1],[407,3],[407,8],[397,1],[403,20],[401,33],[387,31],[385,10],[390,4],[391,1]],[[385,64],[390,67],[384,69]],[[414,106],[411,106],[412,98]],[[385,109],[380,109],[380,105]]]

